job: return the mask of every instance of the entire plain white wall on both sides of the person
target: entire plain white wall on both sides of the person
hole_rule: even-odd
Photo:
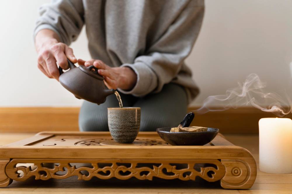
[[[0,106],[79,106],[81,100],[36,67],[32,31],[38,7],[48,0],[0,2]],[[201,33],[187,58],[201,94],[209,95],[257,73],[268,89],[290,88],[292,61],[291,0],[206,1]],[[89,59],[84,29],[71,47]]]

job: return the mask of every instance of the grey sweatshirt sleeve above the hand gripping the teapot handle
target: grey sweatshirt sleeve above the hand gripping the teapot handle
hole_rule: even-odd
[[[34,38],[42,29],[55,31],[60,41],[70,45],[84,25],[84,8],[81,0],[53,0],[39,8],[40,17],[34,29]]]

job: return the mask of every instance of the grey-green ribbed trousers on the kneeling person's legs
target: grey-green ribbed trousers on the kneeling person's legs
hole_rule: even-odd
[[[177,84],[166,84],[161,92],[145,97],[119,93],[124,107],[141,107],[140,131],[178,126],[187,113],[185,89]],[[107,108],[118,106],[115,95],[109,95],[100,105],[84,101],[79,113],[79,130],[108,131]]]

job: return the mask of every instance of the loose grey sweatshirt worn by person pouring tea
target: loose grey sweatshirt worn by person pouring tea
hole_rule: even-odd
[[[188,102],[199,93],[184,60],[201,28],[203,0],[55,0],[39,12],[34,35],[50,29],[70,45],[85,24],[93,59],[131,67],[137,83],[120,92],[142,97],[171,82],[186,89]]]

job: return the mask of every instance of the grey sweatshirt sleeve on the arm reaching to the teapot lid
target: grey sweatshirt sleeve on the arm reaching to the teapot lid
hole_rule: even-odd
[[[137,74],[137,82],[131,91],[122,93],[145,96],[160,92],[164,84],[178,75],[185,58],[190,54],[199,34],[204,15],[204,5],[190,1],[167,31],[150,47],[147,55],[135,58],[133,64],[123,64]]]

